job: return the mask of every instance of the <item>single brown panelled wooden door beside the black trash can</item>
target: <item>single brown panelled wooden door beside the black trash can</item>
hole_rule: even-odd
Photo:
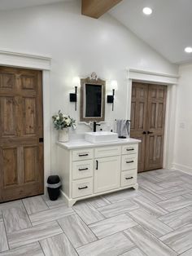
[[[41,71],[0,67],[0,202],[43,193]]]

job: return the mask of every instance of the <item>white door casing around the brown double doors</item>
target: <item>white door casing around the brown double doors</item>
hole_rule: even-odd
[[[173,153],[175,143],[175,119],[176,119],[176,100],[177,100],[177,83],[178,76],[164,73],[146,72],[137,69],[129,69],[128,73],[128,90],[127,90],[127,113],[126,118],[130,119],[131,114],[131,97],[133,82],[142,82],[148,84],[165,85],[167,87],[167,106],[165,113],[164,126],[164,157],[163,167],[172,169]]]

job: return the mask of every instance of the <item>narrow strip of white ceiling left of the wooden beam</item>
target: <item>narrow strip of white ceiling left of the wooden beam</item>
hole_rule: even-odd
[[[23,7],[33,7],[54,2],[68,2],[69,0],[0,0],[0,10],[12,10]]]

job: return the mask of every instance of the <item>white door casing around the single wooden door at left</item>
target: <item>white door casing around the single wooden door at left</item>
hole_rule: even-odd
[[[0,51],[0,65],[15,68],[29,68],[42,71],[43,133],[44,133],[44,192],[46,179],[50,175],[50,61],[40,55]]]

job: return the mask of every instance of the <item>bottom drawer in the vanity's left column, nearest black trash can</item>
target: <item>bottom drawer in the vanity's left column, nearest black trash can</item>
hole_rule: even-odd
[[[72,198],[90,194],[93,194],[93,179],[83,179],[72,182]]]

